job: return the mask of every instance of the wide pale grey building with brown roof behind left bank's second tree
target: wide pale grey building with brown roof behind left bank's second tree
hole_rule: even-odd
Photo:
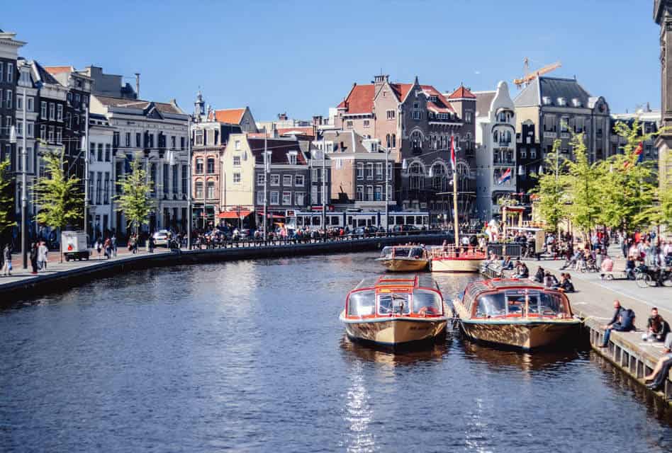
[[[114,128],[115,181],[130,171],[133,159],[140,159],[147,170],[155,212],[145,230],[186,231],[189,115],[175,101],[159,103],[106,96],[91,96],[91,113],[103,115]],[[123,214],[116,212],[112,228],[123,234],[126,226]]]

